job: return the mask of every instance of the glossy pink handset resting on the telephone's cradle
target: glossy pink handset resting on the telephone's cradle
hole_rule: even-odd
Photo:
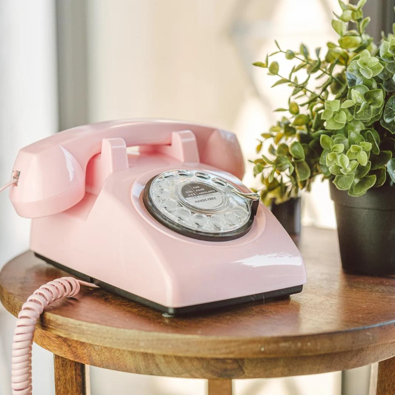
[[[103,139],[122,139],[127,147],[168,146],[173,133],[181,131],[191,131],[196,138],[194,161],[242,177],[243,158],[233,133],[176,121],[109,121],[78,126],[20,150],[13,168],[18,185],[10,189],[10,199],[27,218],[67,210],[84,197],[87,164],[102,151]]]

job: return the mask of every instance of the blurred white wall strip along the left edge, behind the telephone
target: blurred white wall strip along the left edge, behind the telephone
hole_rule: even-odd
[[[57,131],[55,37],[54,2],[0,1],[0,185],[10,179],[21,147]],[[28,249],[29,224],[16,215],[7,193],[0,194],[0,268]],[[0,307],[0,395],[10,394],[13,325],[14,318]],[[34,349],[34,359],[50,369],[51,355]],[[40,393],[53,393],[52,377],[35,366]]]

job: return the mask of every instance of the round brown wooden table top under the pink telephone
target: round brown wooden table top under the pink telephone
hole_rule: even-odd
[[[162,376],[278,377],[344,370],[395,355],[395,278],[346,275],[337,234],[303,228],[308,282],[289,298],[167,317],[81,287],[40,317],[35,342],[82,363]],[[67,276],[25,252],[0,274],[14,316],[41,284]]]

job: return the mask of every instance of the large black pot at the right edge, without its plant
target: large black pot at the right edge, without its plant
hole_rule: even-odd
[[[395,187],[371,188],[351,197],[330,183],[340,255],[347,273],[395,275]]]

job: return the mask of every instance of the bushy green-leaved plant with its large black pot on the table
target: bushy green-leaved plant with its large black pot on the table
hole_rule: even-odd
[[[293,51],[276,42],[274,53],[254,63],[277,77],[273,86],[292,90],[287,106],[275,110],[282,117],[262,134],[257,152],[267,140],[270,145],[253,171],[267,204],[309,191],[317,176],[330,180],[344,270],[393,275],[395,35],[383,34],[379,46],[373,42],[365,32],[365,3],[339,0],[341,12],[332,20],[339,40],[327,43],[324,57],[321,48],[311,53],[301,44]],[[289,74],[275,55],[294,62]]]

